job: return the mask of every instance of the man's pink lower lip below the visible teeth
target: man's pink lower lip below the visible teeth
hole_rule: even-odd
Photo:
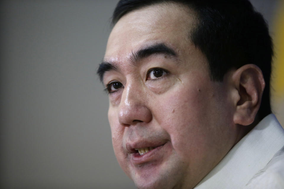
[[[147,152],[146,154],[140,155],[139,153],[133,153],[131,154],[131,160],[133,164],[139,165],[139,164],[144,164],[147,162],[152,162],[156,160],[161,160],[162,156],[165,155],[165,151],[168,148],[168,143],[158,146],[151,151]]]

